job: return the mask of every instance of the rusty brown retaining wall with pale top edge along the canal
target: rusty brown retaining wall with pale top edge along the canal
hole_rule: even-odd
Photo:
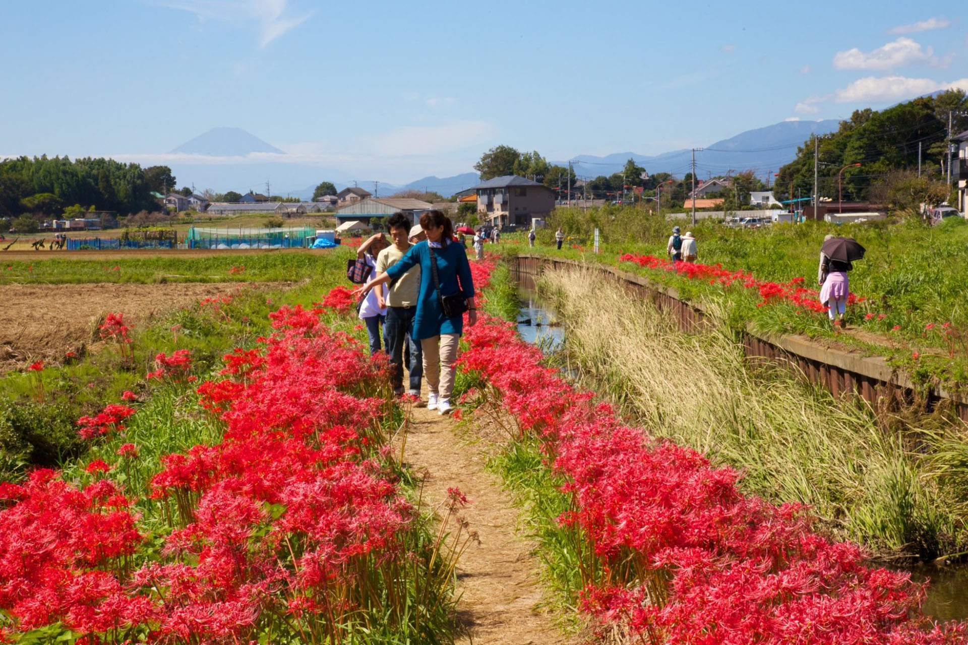
[[[659,311],[675,319],[682,332],[700,332],[711,324],[703,309],[682,300],[675,288],[615,267],[524,253],[510,263],[510,268],[519,283],[526,287],[533,287],[534,279],[546,270],[590,269],[601,273],[605,279],[618,282],[630,294],[650,300]],[[939,401],[947,400],[958,417],[968,422],[968,397],[937,387],[923,392],[923,388],[906,373],[888,365],[884,358],[827,347],[807,337],[771,336],[749,328],[741,330],[741,338],[747,357],[771,360],[826,388],[833,396],[862,396],[871,404],[886,400],[906,404],[923,401],[928,410]],[[922,396],[917,396],[918,392],[922,392]]]

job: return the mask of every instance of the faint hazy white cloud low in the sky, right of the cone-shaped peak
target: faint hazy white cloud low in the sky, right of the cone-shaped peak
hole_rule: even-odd
[[[491,141],[497,128],[488,121],[453,121],[439,126],[407,126],[363,141],[374,154],[435,155],[479,146]]]

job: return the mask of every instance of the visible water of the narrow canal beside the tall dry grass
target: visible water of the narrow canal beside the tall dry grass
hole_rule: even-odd
[[[517,278],[521,300],[518,333],[543,351],[562,349],[564,327],[558,316],[538,299],[531,276],[518,274]],[[968,619],[968,564],[948,567],[918,564],[900,569],[911,572],[911,577],[917,581],[930,579],[927,598],[922,605],[924,614],[940,621]]]

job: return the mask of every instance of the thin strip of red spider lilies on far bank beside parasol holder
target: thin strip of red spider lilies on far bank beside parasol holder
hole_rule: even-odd
[[[828,307],[820,303],[820,292],[816,289],[809,289],[803,286],[802,277],[794,278],[789,282],[774,282],[771,280],[758,280],[746,271],[727,271],[721,264],[695,264],[692,262],[670,261],[665,258],[655,257],[654,255],[634,255],[623,253],[619,256],[621,262],[632,262],[640,267],[653,271],[672,272],[686,279],[703,280],[710,284],[718,284],[722,287],[729,287],[733,284],[740,284],[750,290],[756,290],[760,295],[760,302],[757,307],[777,302],[787,302],[801,309],[824,313]],[[847,298],[848,305],[863,302],[863,298],[858,298],[855,294],[850,294]]]

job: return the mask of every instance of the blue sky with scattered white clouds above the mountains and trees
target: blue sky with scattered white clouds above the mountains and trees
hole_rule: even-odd
[[[395,183],[499,143],[655,154],[968,89],[957,7],[6,0],[0,156],[177,163],[217,126]]]

